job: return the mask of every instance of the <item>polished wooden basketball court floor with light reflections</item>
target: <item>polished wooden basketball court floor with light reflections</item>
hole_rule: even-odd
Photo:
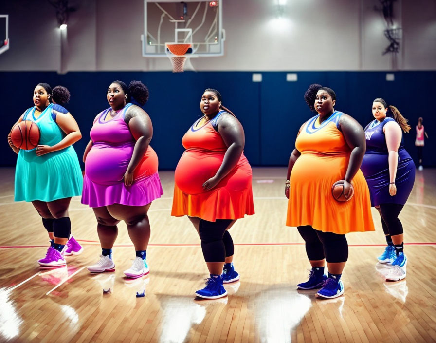
[[[345,294],[321,300],[297,290],[309,264],[296,229],[285,227],[284,168],[254,168],[256,214],[232,228],[239,282],[228,296],[202,300],[207,269],[186,218],[170,217],[174,173],[161,172],[147,261],[150,274],[124,277],[135,257],[124,224],[113,258],[116,271],[90,274],[101,250],[92,211],[74,198],[73,235],[83,245],[67,266],[40,269],[47,237],[31,204],[13,202],[14,171],[0,169],[0,342],[435,342],[436,171],[417,171],[400,214],[407,277],[385,280],[378,213],[376,232],[347,236]]]

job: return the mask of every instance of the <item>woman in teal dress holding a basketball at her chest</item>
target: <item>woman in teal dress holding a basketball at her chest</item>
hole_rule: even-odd
[[[8,136],[10,147],[18,154],[15,201],[32,202],[49,233],[51,245],[45,258],[38,260],[39,265],[62,267],[66,265],[63,252],[71,233],[68,207],[71,197],[82,193],[82,172],[72,147],[82,134],[73,116],[52,102],[52,89],[47,83],[36,86],[33,101],[35,106],[18,122],[31,120],[37,124],[39,145],[32,150],[18,149]]]

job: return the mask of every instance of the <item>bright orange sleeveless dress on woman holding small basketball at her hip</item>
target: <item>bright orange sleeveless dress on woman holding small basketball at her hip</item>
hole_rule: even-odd
[[[338,202],[331,186],[344,180],[351,150],[338,129],[342,112],[319,125],[319,115],[302,128],[295,142],[301,152],[291,171],[287,226],[310,225],[323,232],[374,231],[368,185],[362,171],[352,180],[354,196]]]

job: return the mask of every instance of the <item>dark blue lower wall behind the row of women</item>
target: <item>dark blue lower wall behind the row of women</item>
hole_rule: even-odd
[[[395,81],[386,81],[385,72],[298,72],[298,81],[287,82],[286,72],[263,72],[262,82],[252,82],[251,72],[0,72],[3,85],[1,114],[3,125],[1,166],[15,165],[17,156],[6,136],[19,116],[32,107],[37,83],[66,86],[71,92],[66,106],[77,120],[83,138],[74,144],[81,160],[89,140],[93,118],[109,107],[106,90],[111,81],[141,80],[149,88],[144,109],[150,115],[154,135],[151,146],[158,153],[160,169],[174,169],[183,152],[181,139],[199,118],[200,97],[206,88],[216,88],[224,106],[241,121],[246,135],[245,154],[253,166],[285,166],[294,148],[298,129],[314,114],[303,95],[311,83],[331,87],[337,95],[337,110],[352,115],[363,127],[372,120],[371,106],[376,97],[396,106],[409,119],[412,131],[404,135],[407,151],[416,160],[415,125],[418,117],[430,139],[424,148],[424,165],[436,166],[436,119],[431,93],[436,71],[401,71]],[[83,165],[82,165],[83,167]]]

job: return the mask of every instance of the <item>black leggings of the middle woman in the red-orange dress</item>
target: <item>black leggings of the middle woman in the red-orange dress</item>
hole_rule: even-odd
[[[233,256],[232,236],[226,230],[232,221],[232,219],[217,219],[215,222],[209,222],[200,219],[201,250],[206,262],[224,262],[226,257]]]

